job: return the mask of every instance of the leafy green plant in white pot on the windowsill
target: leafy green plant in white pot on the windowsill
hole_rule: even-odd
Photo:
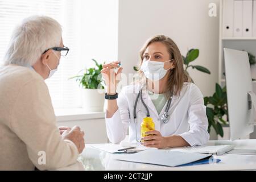
[[[102,64],[92,59],[96,68],[83,69],[81,75],[71,77],[75,78],[82,88],[82,107],[86,111],[103,111],[104,110],[104,85],[102,84]]]

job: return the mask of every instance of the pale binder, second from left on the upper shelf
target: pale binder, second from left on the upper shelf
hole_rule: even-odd
[[[243,36],[243,1],[234,1],[234,37]]]

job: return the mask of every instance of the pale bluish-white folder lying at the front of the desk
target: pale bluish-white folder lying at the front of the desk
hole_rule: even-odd
[[[182,164],[196,162],[197,160],[209,158],[212,155],[199,154],[196,152],[179,152],[168,150],[145,150],[136,154],[117,156],[116,160],[156,164],[160,166],[176,167]]]

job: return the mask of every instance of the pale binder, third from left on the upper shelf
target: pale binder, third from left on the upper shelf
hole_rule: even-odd
[[[243,37],[253,36],[253,0],[243,1]]]

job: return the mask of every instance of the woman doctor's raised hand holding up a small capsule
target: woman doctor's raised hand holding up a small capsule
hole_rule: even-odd
[[[104,64],[103,69],[101,70],[102,76],[107,86],[106,92],[108,94],[116,93],[117,84],[121,78],[121,73],[123,70],[123,68],[121,68],[119,65],[120,63],[120,61],[114,61],[109,64]],[[114,71],[115,68],[119,68],[117,73]]]

